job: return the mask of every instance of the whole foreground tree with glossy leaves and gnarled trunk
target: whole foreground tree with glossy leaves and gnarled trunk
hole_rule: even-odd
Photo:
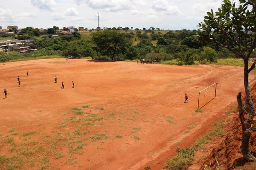
[[[244,89],[245,103],[242,104],[241,92],[237,95],[239,118],[242,124],[241,151],[248,161],[256,161],[249,150],[251,137],[251,124],[254,117],[254,104],[252,103],[249,88],[249,73],[255,68],[255,62],[249,68],[249,58],[256,45],[256,1],[239,0],[240,4],[224,0],[217,12],[207,12],[204,22],[199,23],[198,32],[203,42],[213,41],[218,46],[226,48],[244,62]],[[247,111],[248,116],[244,116]]]

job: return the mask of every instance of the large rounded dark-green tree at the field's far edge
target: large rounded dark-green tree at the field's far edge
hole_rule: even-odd
[[[97,52],[107,55],[111,60],[116,60],[118,55],[124,55],[132,46],[132,41],[124,33],[116,30],[94,32],[92,41],[97,46]]]

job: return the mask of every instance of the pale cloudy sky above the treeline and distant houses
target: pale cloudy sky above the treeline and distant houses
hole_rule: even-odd
[[[82,26],[197,29],[197,24],[221,0],[5,0],[0,26],[49,28]]]

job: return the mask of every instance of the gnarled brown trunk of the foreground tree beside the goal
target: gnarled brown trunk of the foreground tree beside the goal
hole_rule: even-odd
[[[252,103],[250,88],[249,88],[249,71],[248,71],[248,59],[244,58],[244,88],[245,88],[245,94],[246,94],[246,100],[245,105],[242,108],[242,99],[241,99],[241,93],[238,94],[238,105],[239,105],[239,115],[240,120],[242,124],[242,145],[240,147],[242,154],[245,159],[248,161],[256,161],[256,158],[251,154],[251,151],[249,149],[249,141],[251,137],[251,125],[252,125],[252,119],[254,117],[254,105]],[[247,118],[247,121],[245,122],[245,119],[243,117],[243,113],[245,109],[247,108],[247,105],[249,105],[249,115]]]

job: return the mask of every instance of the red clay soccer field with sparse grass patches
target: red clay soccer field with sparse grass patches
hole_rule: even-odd
[[[0,71],[0,168],[162,169],[243,90],[243,68],[232,66],[56,58],[5,63]],[[198,92],[215,82],[217,98],[195,113]]]

